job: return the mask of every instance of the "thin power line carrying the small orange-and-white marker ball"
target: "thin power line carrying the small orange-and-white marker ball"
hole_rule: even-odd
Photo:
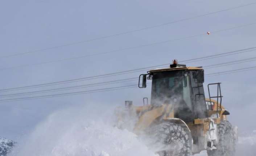
[[[242,28],[242,27],[245,27],[245,26],[250,26],[250,25],[255,25],[255,24],[256,24],[256,22],[255,23],[251,23],[251,24],[236,26],[236,27],[232,27],[232,28],[211,31],[211,33],[218,33],[218,32],[221,32],[221,31],[227,31],[227,30],[232,30],[232,29],[236,29],[236,28]],[[0,68],[0,70],[15,69],[15,68],[21,68],[21,67],[29,67],[29,66],[35,66],[35,65],[41,65],[41,64],[56,63],[56,62],[61,62],[61,61],[66,61],[66,60],[74,60],[74,59],[79,59],[79,58],[85,58],[85,57],[89,57],[89,56],[109,54],[109,53],[113,53],[113,52],[119,52],[119,51],[137,49],[137,48],[141,48],[141,47],[148,47],[148,46],[158,45],[158,44],[162,44],[162,43],[168,43],[168,42],[173,42],[173,41],[180,41],[182,39],[193,38],[193,37],[198,37],[198,36],[202,36],[202,35],[205,35],[205,33],[197,34],[197,35],[191,35],[191,36],[182,37],[182,38],[171,39],[171,40],[166,40],[166,41],[161,41],[161,42],[149,43],[149,44],[140,45],[140,46],[127,47],[127,48],[124,48],[124,49],[117,49],[117,50],[112,50],[112,51],[107,51],[107,52],[100,52],[100,53],[96,53],[96,54],[77,56],[77,57],[73,57],[73,58],[59,59],[59,60],[53,60],[53,61],[41,62],[41,63],[35,63],[35,64],[26,64],[26,65],[16,66],[16,67]]]

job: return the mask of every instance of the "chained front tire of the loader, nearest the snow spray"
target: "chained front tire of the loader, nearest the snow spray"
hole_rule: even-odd
[[[192,140],[181,125],[162,122],[151,127],[154,145],[159,156],[189,156]]]

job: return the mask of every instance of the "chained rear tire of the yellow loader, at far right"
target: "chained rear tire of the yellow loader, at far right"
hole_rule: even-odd
[[[207,151],[208,156],[234,156],[236,138],[230,122],[222,121],[217,125],[219,143],[216,149]]]

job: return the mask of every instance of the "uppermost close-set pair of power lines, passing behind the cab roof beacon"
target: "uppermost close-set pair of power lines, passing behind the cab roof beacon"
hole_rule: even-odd
[[[235,50],[235,51],[230,51],[230,52],[224,52],[224,53],[220,53],[220,54],[209,55],[209,56],[204,56],[204,57],[195,58],[195,59],[188,59],[188,60],[183,60],[183,61],[180,61],[180,62],[181,63],[189,63],[189,62],[193,62],[193,61],[202,61],[202,60],[206,60],[206,59],[212,59],[212,58],[217,58],[217,57],[222,57],[222,56],[227,56],[227,55],[240,54],[240,53],[243,53],[243,52],[249,52],[249,51],[254,51],[254,50],[256,50],[256,47],[251,47],[251,48],[241,49],[241,50]],[[138,72],[138,71],[144,71],[145,69],[162,67],[162,66],[166,66],[166,65],[169,65],[169,64],[170,63],[168,63],[168,64],[161,64],[161,65],[157,65],[157,66],[150,66],[150,67],[132,69],[132,70],[127,70],[127,71],[121,71],[121,72],[115,72],[115,73],[107,73],[107,74],[97,75],[97,76],[83,77],[83,78],[79,78],[79,79],[56,81],[56,82],[52,82],[52,83],[44,83],[44,84],[37,84],[37,85],[28,85],[28,86],[24,86],[24,87],[0,89],[0,92],[13,91],[13,90],[21,90],[21,89],[30,89],[30,88],[45,87],[45,86],[58,85],[58,84],[64,84],[64,83],[73,83],[73,82],[77,82],[77,81],[98,79],[98,78],[103,78],[103,77],[122,75],[122,74],[126,74],[126,73],[133,73],[133,72]]]

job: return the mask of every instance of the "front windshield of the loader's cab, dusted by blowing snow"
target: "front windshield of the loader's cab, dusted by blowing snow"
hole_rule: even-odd
[[[191,110],[189,76],[184,71],[153,73],[151,97],[153,105],[178,103]]]

